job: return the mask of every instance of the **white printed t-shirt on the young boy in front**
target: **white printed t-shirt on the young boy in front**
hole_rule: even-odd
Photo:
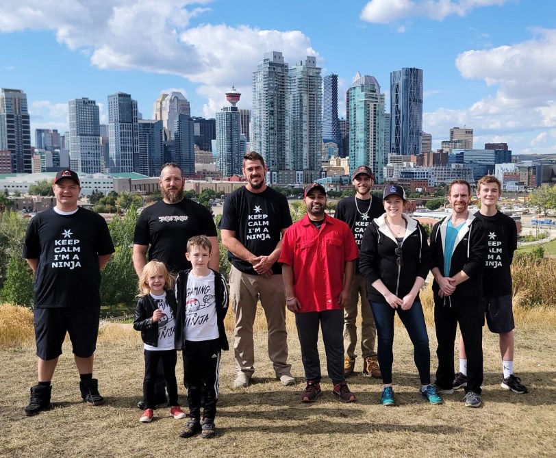
[[[218,339],[212,270],[206,277],[195,277],[193,272],[188,275],[184,332],[186,340],[194,342]]]

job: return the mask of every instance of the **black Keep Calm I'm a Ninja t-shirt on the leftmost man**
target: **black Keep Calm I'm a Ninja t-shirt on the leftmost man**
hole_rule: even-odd
[[[79,207],[71,215],[40,212],[27,226],[25,259],[38,259],[34,307],[100,305],[99,255],[114,253],[102,216]]]

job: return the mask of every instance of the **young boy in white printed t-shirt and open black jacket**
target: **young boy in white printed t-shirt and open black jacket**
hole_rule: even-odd
[[[214,417],[218,400],[220,351],[228,350],[224,317],[228,311],[227,284],[222,275],[209,268],[212,244],[206,236],[188,240],[186,257],[192,268],[179,272],[176,348],[184,358],[184,385],[187,388],[189,419],[179,435],[214,437]],[[201,423],[201,398],[205,409]]]

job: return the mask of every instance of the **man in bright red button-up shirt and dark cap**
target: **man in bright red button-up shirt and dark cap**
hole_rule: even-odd
[[[307,214],[283,236],[279,262],[286,289],[286,306],[295,313],[301,359],[307,387],[304,403],[320,395],[318,327],[325,343],[328,376],[333,394],[351,403],[344,377],[344,311],[349,303],[351,280],[358,257],[357,245],[345,222],[325,213],[326,190],[318,183],[305,188]]]

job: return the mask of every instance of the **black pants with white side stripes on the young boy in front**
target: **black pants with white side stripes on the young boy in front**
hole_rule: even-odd
[[[214,420],[220,388],[220,342],[218,339],[200,342],[188,340],[181,353],[184,357],[184,385],[187,388],[189,416],[201,420],[201,398],[204,396],[203,418]]]

